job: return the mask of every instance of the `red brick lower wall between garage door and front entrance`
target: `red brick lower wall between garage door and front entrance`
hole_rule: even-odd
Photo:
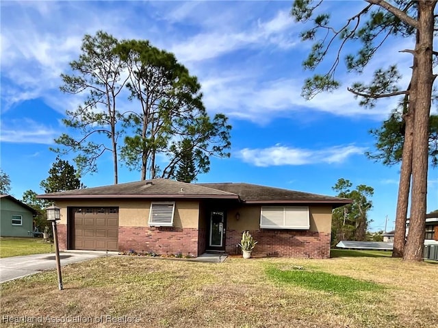
[[[198,229],[177,227],[118,227],[118,250],[183,253],[198,256]]]

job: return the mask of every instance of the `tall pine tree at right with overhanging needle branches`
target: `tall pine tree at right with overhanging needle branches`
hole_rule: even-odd
[[[413,56],[409,86],[401,87],[401,75],[395,65],[380,68],[374,73],[371,84],[355,83],[348,90],[361,97],[360,104],[372,107],[376,99],[404,96],[407,104],[406,130],[400,168],[400,184],[396,214],[396,239],[401,236],[401,226],[407,217],[409,190],[411,190],[411,223],[403,259],[422,261],[424,229],[426,224],[426,194],[428,177],[428,123],[433,84],[437,75],[433,72],[435,13],[437,1],[430,0],[365,0],[363,7],[345,16],[343,26],[332,26],[331,15],[324,10],[324,1],[296,0],[292,16],[296,21],[307,23],[302,40],[313,41],[313,47],[303,62],[306,69],[315,70],[326,57],[332,64],[325,73],[316,73],[305,81],[302,94],[311,99],[319,92],[335,90],[340,83],[335,77],[342,55],[350,44],[359,45],[357,51],[346,53],[348,71],[363,73],[374,54],[381,50],[387,38],[410,38],[412,49],[399,49]],[[337,16],[339,18],[339,16]],[[310,24],[310,25],[309,25]],[[404,44],[404,42],[400,42]],[[333,51],[332,51],[333,50]],[[329,56],[327,56],[330,54]],[[332,56],[333,55],[333,56]],[[411,184],[412,181],[412,184]],[[396,242],[394,242],[396,244]],[[400,249],[401,250],[401,249]]]

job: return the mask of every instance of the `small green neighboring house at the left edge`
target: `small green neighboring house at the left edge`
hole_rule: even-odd
[[[38,212],[8,194],[0,194],[0,236],[32,237]]]

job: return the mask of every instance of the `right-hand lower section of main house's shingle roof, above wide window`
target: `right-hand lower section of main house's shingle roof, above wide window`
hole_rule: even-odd
[[[242,201],[246,203],[263,203],[263,202],[306,202],[306,203],[351,203],[350,199],[324,196],[322,194],[311,194],[309,192],[300,192],[281,188],[259,186],[256,184],[243,183],[222,183],[222,184],[198,184],[226,192],[238,194]]]

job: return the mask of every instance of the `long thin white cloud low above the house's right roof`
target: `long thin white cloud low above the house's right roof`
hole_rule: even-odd
[[[244,162],[255,166],[282,166],[305,164],[338,164],[345,162],[351,155],[361,155],[364,147],[354,145],[335,146],[326,149],[313,150],[285,147],[276,144],[263,149],[242,149],[237,153]]]

